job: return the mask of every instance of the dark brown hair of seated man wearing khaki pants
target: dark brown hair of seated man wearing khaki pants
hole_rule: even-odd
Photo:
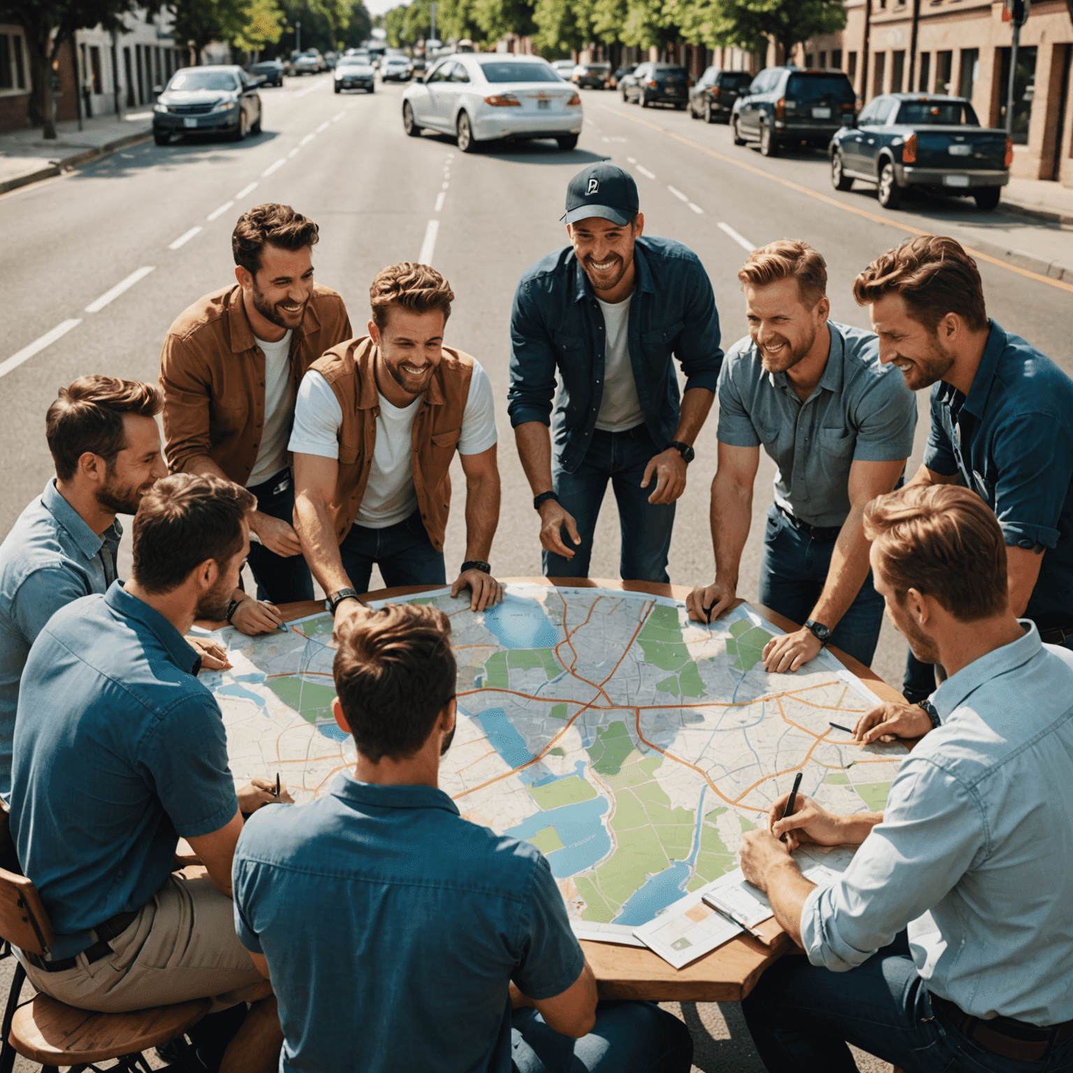
[[[162,477],[134,515],[134,579],[146,592],[172,592],[206,559],[223,567],[241,550],[242,519],[256,505],[220,476]]]

